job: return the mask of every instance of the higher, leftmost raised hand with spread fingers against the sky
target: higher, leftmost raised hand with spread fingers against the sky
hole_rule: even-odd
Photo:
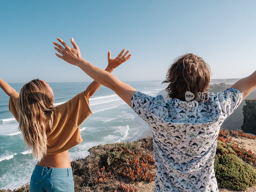
[[[58,53],[55,53],[57,57],[63,59],[64,61],[67,61],[72,65],[77,65],[79,61],[83,60],[79,47],[76,45],[76,42],[73,38],[71,38],[71,44],[74,46],[74,48],[69,47],[60,38],[57,38],[57,40],[63,45],[62,47],[60,44],[53,42],[53,44],[55,45],[54,49],[61,54],[60,55]]]

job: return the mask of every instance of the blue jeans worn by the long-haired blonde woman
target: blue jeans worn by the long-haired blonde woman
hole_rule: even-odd
[[[31,175],[29,192],[74,192],[72,168],[53,168],[36,165]]]

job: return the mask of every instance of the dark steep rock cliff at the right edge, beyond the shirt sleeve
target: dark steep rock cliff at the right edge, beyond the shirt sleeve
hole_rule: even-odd
[[[243,107],[244,124],[241,129],[244,132],[256,134],[256,99],[245,100]]]

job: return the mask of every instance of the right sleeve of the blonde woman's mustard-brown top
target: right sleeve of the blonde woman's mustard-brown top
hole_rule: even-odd
[[[85,91],[77,94],[66,102],[68,112],[73,118],[73,123],[78,127],[92,114],[89,107],[89,100],[85,97]]]

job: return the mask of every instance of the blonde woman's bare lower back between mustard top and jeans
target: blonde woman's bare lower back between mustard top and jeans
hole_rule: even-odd
[[[45,155],[40,162],[37,162],[37,165],[41,167],[70,168],[68,150],[55,155]]]

